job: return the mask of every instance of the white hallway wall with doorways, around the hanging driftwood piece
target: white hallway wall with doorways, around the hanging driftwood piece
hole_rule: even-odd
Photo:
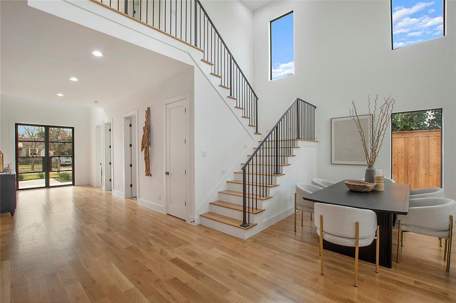
[[[123,186],[123,116],[137,111],[138,113],[138,203],[159,212],[165,212],[166,202],[163,194],[164,181],[164,156],[163,137],[164,128],[164,106],[170,98],[188,95],[189,110],[193,108],[193,69],[188,68],[184,72],[177,74],[169,79],[147,87],[142,91],[133,93],[124,100],[116,100],[112,104],[106,104],[103,109],[91,110],[91,184],[95,183],[95,127],[103,122],[112,120],[112,153],[113,153],[113,193],[123,196],[125,188]],[[145,176],[144,156],[141,153],[142,127],[145,121],[145,110],[150,107],[150,163],[152,177]],[[190,128],[191,129],[191,128]]]

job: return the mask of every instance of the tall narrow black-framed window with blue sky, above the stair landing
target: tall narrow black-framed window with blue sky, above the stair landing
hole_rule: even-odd
[[[295,73],[293,12],[271,21],[271,80]]]

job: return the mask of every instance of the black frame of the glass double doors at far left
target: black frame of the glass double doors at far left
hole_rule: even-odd
[[[71,167],[71,176],[72,176],[72,179],[73,181],[71,182],[71,184],[63,184],[63,185],[53,185],[53,186],[50,186],[49,185],[49,173],[50,172],[47,172],[44,171],[46,177],[45,177],[45,186],[40,186],[40,187],[31,187],[31,188],[19,188],[19,158],[18,158],[18,142],[19,142],[19,133],[18,133],[18,125],[25,125],[25,126],[43,126],[46,128],[46,133],[45,133],[45,149],[46,149],[46,156],[44,157],[45,158],[45,162],[44,165],[46,165],[46,167],[48,168],[49,166],[49,131],[48,129],[50,127],[56,127],[56,128],[70,128],[71,129],[71,161],[72,161],[72,167]],[[54,187],[62,187],[62,186],[74,186],[75,184],[75,175],[74,175],[74,126],[58,126],[58,125],[46,125],[46,124],[33,124],[33,123],[15,123],[14,124],[14,137],[15,137],[15,147],[14,147],[14,150],[15,150],[15,159],[14,159],[14,162],[16,164],[16,190],[29,190],[29,189],[40,189],[40,188],[54,188]]]

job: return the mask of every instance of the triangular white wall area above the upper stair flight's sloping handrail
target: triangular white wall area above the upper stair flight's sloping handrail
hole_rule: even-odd
[[[222,39],[233,54],[248,82],[254,80],[253,13],[238,0],[202,0]]]

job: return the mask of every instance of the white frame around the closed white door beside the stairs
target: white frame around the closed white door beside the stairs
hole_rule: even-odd
[[[168,146],[167,146],[167,131],[168,131],[168,116],[167,116],[167,105],[172,104],[174,102],[178,102],[181,100],[184,100],[185,108],[187,109],[187,127],[186,127],[186,136],[187,136],[187,148],[186,148],[186,154],[187,154],[187,204],[185,205],[185,218],[184,220],[188,222],[188,219],[190,218],[189,214],[189,204],[190,204],[190,144],[188,142],[189,140],[189,128],[190,128],[190,119],[188,115],[188,104],[189,104],[189,99],[190,99],[190,94],[182,94],[176,97],[169,98],[165,100],[163,103],[163,197],[164,197],[164,211],[166,214],[168,214],[168,192],[167,192],[167,187],[168,187],[168,179],[167,176],[165,175],[165,172],[167,171],[167,156],[168,156]],[[172,215],[171,215],[172,216]],[[176,217],[177,218],[177,217]]]

